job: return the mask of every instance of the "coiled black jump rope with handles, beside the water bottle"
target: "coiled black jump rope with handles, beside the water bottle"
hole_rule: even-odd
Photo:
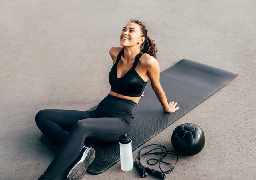
[[[144,148],[147,148],[148,146],[159,146],[159,147],[154,148],[154,149],[152,149],[148,152],[145,152],[144,154],[141,154],[141,150],[143,150]],[[161,152],[154,152],[154,150],[161,150]],[[159,159],[150,158],[150,159],[147,160],[147,164],[149,164],[149,165],[155,165],[155,164],[158,163],[161,172],[157,171],[155,169],[145,167],[141,164],[141,161],[140,161],[141,156],[147,156],[149,154],[161,155],[161,158],[159,158]],[[161,169],[161,164],[171,165],[171,163],[162,161],[162,159],[165,158],[168,154],[175,155],[177,157],[177,159],[176,159],[176,162],[175,162],[175,165],[173,166],[173,168],[171,168],[170,170],[167,170],[167,171],[163,171]],[[150,144],[150,145],[147,145],[147,146],[145,146],[145,147],[143,147],[139,150],[139,156],[137,156],[135,158],[134,165],[139,170],[139,173],[141,174],[141,176],[143,178],[147,177],[147,175],[149,173],[149,174],[151,174],[153,176],[156,176],[158,178],[165,179],[166,176],[167,176],[166,174],[169,174],[174,170],[175,166],[177,165],[178,160],[179,160],[179,156],[175,151],[168,151],[168,149],[165,146],[161,146],[159,144]]]

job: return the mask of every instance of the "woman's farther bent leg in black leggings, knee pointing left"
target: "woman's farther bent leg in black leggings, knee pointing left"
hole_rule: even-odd
[[[36,114],[35,120],[36,125],[46,138],[59,149],[67,138],[65,131],[70,132],[78,120],[96,116],[97,112],[95,111],[44,109]]]

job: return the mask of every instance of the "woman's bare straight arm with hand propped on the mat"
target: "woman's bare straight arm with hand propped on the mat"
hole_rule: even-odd
[[[161,105],[163,106],[163,110],[165,112],[175,112],[179,109],[176,107],[177,102],[171,101],[168,103],[165,92],[160,84],[160,66],[159,62],[152,56],[150,56],[147,74],[151,81],[152,89],[154,90],[158,100],[160,101]]]

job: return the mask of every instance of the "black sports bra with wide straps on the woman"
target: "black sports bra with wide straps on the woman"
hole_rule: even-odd
[[[135,68],[139,62],[139,58],[144,53],[140,52],[133,62],[133,67],[127,73],[125,73],[122,78],[117,78],[117,64],[121,59],[123,52],[124,49],[119,52],[117,60],[109,72],[111,91],[125,96],[139,97],[142,95],[147,81],[145,82],[141,76],[139,76],[139,74],[135,71]]]

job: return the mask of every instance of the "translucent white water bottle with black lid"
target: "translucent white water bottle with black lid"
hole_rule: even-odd
[[[131,148],[131,136],[122,134],[119,137],[121,170],[130,171],[133,169],[133,151]]]

